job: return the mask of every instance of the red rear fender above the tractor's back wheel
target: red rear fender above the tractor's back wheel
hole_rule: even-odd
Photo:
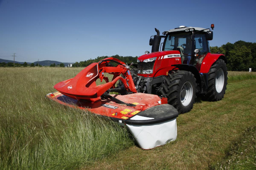
[[[213,63],[218,59],[223,59],[227,64],[227,58],[223,54],[210,54],[204,57],[199,73],[208,73]]]

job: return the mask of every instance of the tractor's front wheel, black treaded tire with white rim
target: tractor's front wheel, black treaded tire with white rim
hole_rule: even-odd
[[[175,71],[165,77],[165,83],[157,94],[167,96],[168,103],[174,106],[179,114],[186,113],[195,103],[196,86],[196,79],[190,71]]]

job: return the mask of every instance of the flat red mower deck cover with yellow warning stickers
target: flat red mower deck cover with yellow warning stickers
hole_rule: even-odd
[[[54,95],[53,95],[54,94]],[[157,95],[153,94],[142,94],[142,93],[135,93],[135,94],[128,94],[128,95],[117,95],[112,94],[111,96],[116,97],[119,100],[122,100],[126,103],[135,103],[137,104],[135,107],[130,107],[122,104],[118,104],[110,99],[105,100],[98,100],[95,102],[89,102],[87,100],[77,100],[72,99],[63,94],[57,92],[47,95],[47,97],[55,102],[58,102],[62,105],[69,106],[71,108],[78,108],[81,110],[90,111],[91,113],[99,114],[102,116],[113,117],[117,119],[128,119],[140,111],[144,111],[148,108],[151,108],[156,105],[160,105],[159,101],[162,104],[167,103],[167,99],[161,99]],[[52,97],[53,95],[53,97]],[[104,105],[109,105],[112,108],[107,108]],[[135,112],[135,113],[134,113]]]

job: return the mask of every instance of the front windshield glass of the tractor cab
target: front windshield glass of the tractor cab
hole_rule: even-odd
[[[192,34],[191,33],[174,33],[169,34],[166,38],[164,51],[178,50],[181,54],[183,64],[189,64],[192,52]]]

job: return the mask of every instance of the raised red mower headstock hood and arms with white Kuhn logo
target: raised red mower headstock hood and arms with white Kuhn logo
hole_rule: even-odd
[[[125,68],[125,63],[112,57],[106,59],[115,60],[121,63],[121,65],[117,65],[116,67],[105,67],[110,61],[102,62],[100,65],[100,62],[92,63],[77,74],[76,77],[59,82],[54,88],[61,94],[73,99],[86,99],[90,102],[95,102],[100,99],[100,96],[102,96],[105,91],[114,88],[114,85],[120,79],[126,89],[136,93],[137,91],[134,82],[132,81],[131,74],[128,74],[128,69]],[[104,73],[113,74],[111,82],[108,81],[108,77],[104,77]],[[120,74],[123,74],[126,79],[120,77]],[[97,86],[96,79],[101,79],[101,81],[104,79],[106,83]],[[127,82],[129,86],[127,85]]]

